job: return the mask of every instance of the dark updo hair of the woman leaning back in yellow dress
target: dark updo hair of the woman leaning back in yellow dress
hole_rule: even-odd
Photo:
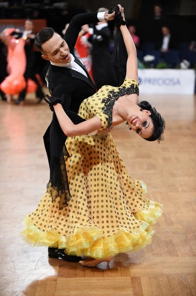
[[[149,138],[145,139],[147,141],[160,141],[164,140],[163,133],[166,128],[166,123],[163,117],[161,117],[161,114],[156,111],[154,107],[150,105],[147,101],[142,101],[139,104],[140,108],[143,110],[148,110],[151,112],[151,115],[149,117],[152,119],[152,123],[154,125],[154,132],[153,135]]]

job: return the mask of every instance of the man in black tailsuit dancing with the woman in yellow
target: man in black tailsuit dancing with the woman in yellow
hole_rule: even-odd
[[[74,16],[69,27],[62,38],[52,28],[41,30],[35,37],[35,46],[42,52],[42,58],[50,61],[51,65],[46,75],[50,93],[57,98],[64,95],[63,109],[70,119],[75,123],[83,122],[84,119],[77,115],[82,101],[95,92],[95,85],[90,78],[84,64],[74,55],[81,27],[85,24],[98,23],[100,21],[112,20],[114,14],[106,12],[92,12]],[[100,135],[107,131],[98,132]],[[59,134],[57,139],[56,134]],[[93,133],[93,134],[96,134]],[[91,134],[92,135],[92,134]],[[44,144],[51,168],[51,159],[56,147],[61,146],[66,138],[57,122],[56,114],[44,135]],[[59,140],[60,139],[60,140]],[[60,142],[59,142],[60,141]],[[55,154],[55,153],[54,153]],[[49,257],[62,258],[66,261],[78,262],[81,257],[68,256],[64,249],[49,248]]]

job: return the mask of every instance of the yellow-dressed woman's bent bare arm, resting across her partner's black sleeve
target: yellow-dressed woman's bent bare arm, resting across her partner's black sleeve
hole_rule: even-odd
[[[87,135],[102,127],[101,120],[97,116],[79,124],[74,124],[64,112],[61,104],[56,104],[54,110],[60,127],[67,137]]]

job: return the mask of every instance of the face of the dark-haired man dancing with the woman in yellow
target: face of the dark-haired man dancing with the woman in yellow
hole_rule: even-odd
[[[42,44],[42,58],[53,63],[67,64],[71,62],[69,47],[65,40],[54,33],[53,37]]]

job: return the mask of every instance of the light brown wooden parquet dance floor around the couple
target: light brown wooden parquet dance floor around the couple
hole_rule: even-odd
[[[19,236],[43,197],[49,166],[43,134],[52,112],[28,95],[0,101],[0,296],[196,296],[196,98],[140,96],[166,119],[165,141],[150,143],[124,123],[112,130],[133,179],[164,205],[152,244],[100,268],[49,259]]]

